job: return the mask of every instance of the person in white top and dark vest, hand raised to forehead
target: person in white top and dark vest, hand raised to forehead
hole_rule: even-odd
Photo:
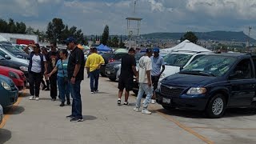
[[[29,52],[29,47],[33,47],[33,51]],[[40,83],[43,74],[47,73],[46,58],[40,53],[39,44],[30,44],[24,48],[26,54],[30,54],[29,63],[29,82],[30,82],[30,100],[39,100]]]

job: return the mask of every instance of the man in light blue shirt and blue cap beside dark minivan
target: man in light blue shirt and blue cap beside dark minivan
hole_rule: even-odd
[[[163,58],[159,55],[159,51],[160,50],[158,48],[154,48],[153,49],[154,56],[151,57],[151,62],[152,62],[151,80],[152,80],[152,84],[154,87],[153,97],[151,99],[152,104],[155,103],[154,91],[157,90],[157,88],[158,88],[159,78],[160,78],[162,72],[166,69],[165,62],[164,62]],[[162,70],[161,70],[161,67],[162,67]]]

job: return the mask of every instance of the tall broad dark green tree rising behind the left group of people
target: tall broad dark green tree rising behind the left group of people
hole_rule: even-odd
[[[54,18],[52,22],[48,23],[46,34],[51,42],[62,42],[62,30],[64,30],[65,25],[61,18]]]

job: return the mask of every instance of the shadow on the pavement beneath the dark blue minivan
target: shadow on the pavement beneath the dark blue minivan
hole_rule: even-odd
[[[197,110],[165,110],[165,109],[158,109],[155,110],[163,114],[174,115],[183,118],[207,118],[206,114],[203,111]],[[154,112],[154,111],[153,111]],[[256,109],[253,108],[233,108],[227,109],[225,114],[223,114],[222,118],[231,118],[231,117],[245,117],[245,116],[252,116],[256,114]]]

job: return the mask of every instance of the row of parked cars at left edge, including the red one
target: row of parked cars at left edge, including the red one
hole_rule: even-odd
[[[28,54],[17,45],[0,42],[0,112],[17,102],[18,91],[28,86],[28,65]]]

